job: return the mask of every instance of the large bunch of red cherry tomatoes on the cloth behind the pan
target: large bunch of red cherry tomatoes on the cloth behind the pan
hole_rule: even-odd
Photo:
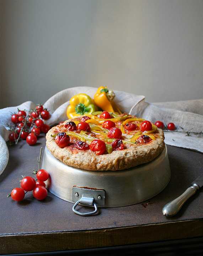
[[[35,145],[37,137],[40,133],[47,133],[50,127],[44,124],[43,120],[50,118],[49,111],[42,105],[38,105],[28,115],[25,110],[18,110],[18,113],[11,115],[13,126],[9,126],[12,130],[9,135],[10,142],[18,143],[19,139],[26,140],[29,145]],[[43,120],[42,120],[43,119]]]

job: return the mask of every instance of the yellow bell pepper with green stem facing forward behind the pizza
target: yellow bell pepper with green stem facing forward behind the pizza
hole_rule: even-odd
[[[70,105],[66,110],[69,119],[81,116],[82,114],[91,114],[95,111],[95,105],[87,94],[77,94],[70,99]]]

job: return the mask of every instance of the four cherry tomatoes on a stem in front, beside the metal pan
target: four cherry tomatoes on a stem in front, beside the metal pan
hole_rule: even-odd
[[[48,192],[44,181],[48,180],[49,174],[44,169],[40,169],[35,172],[35,174],[37,178],[36,180],[31,176],[23,177],[21,180],[21,187],[14,188],[8,197],[11,196],[14,201],[22,201],[25,194],[28,191],[32,191],[33,197],[37,200],[43,200],[46,198]]]

